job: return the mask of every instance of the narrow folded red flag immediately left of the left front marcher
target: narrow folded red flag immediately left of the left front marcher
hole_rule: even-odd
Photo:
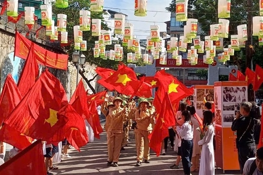
[[[90,115],[86,119],[93,129],[94,137],[97,139],[100,139],[99,134],[103,132],[103,129],[100,125],[98,111],[97,111],[96,106],[97,105],[96,105],[95,100],[92,100],[92,103],[89,105]]]

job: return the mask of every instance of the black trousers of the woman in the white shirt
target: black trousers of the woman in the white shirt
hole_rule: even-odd
[[[185,175],[191,174],[191,158],[193,154],[193,140],[182,139],[181,143],[182,163]]]

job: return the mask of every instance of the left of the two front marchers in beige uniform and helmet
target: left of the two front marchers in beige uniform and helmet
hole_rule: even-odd
[[[122,103],[123,100],[121,98],[114,98],[113,104],[115,106],[109,112],[111,122],[107,132],[109,154],[107,166],[111,166],[112,163],[114,167],[118,166],[123,137],[123,120],[126,118],[125,108],[120,107]]]

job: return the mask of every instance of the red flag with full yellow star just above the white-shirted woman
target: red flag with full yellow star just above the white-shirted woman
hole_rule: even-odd
[[[183,83],[177,80],[177,78],[166,73],[165,70],[158,71],[154,77],[160,82],[157,93],[161,101],[163,101],[166,92],[172,104],[193,94],[193,87],[187,88]]]

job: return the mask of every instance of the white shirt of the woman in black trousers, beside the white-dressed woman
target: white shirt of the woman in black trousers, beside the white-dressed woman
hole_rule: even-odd
[[[193,139],[193,126],[191,123],[186,122],[181,127],[176,127],[177,133],[184,140],[192,140]]]

